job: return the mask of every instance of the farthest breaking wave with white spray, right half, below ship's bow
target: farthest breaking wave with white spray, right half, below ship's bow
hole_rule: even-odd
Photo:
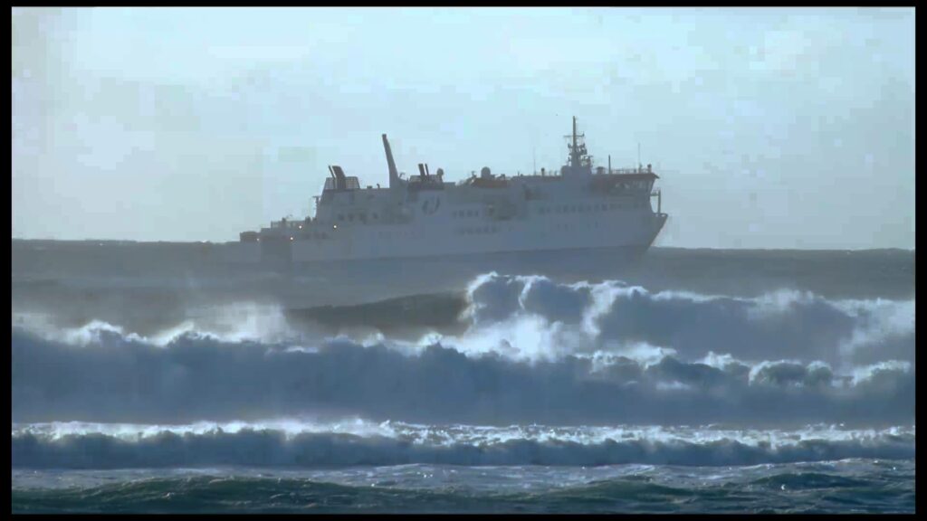
[[[914,360],[914,300],[832,301],[800,291],[754,299],[650,293],[616,281],[564,285],[489,273],[470,285],[467,301],[471,335],[488,344],[476,349],[501,344],[527,358],[645,343],[689,357]]]

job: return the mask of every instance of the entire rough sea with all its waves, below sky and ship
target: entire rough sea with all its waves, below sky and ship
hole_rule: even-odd
[[[204,248],[14,241],[14,512],[914,512],[913,251],[352,287]]]

